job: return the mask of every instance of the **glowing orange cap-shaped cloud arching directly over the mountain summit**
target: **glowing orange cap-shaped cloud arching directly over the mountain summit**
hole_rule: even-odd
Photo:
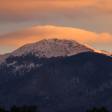
[[[0,37],[0,46],[18,48],[26,43],[32,43],[41,39],[72,39],[96,48],[112,49],[112,35],[109,33],[95,33],[77,28],[60,26],[37,26],[27,28],[15,33]],[[7,47],[8,48],[8,47]]]

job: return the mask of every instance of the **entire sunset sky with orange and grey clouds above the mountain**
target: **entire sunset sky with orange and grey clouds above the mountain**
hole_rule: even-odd
[[[50,36],[112,52],[111,4],[112,0],[0,0],[0,54]]]

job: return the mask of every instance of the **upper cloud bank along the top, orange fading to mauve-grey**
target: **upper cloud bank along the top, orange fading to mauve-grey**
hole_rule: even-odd
[[[112,12],[112,0],[0,0],[1,21],[22,21],[57,16],[77,17]]]

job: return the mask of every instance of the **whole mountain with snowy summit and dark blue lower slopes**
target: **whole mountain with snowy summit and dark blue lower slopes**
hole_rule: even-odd
[[[41,112],[112,110],[112,57],[70,40],[25,45],[0,64],[0,104]]]

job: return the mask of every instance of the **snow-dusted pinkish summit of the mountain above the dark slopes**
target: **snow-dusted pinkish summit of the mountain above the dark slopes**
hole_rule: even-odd
[[[48,39],[36,43],[26,44],[11,53],[14,56],[35,54],[38,57],[71,56],[81,52],[94,51],[93,49],[79,44],[74,40]]]

